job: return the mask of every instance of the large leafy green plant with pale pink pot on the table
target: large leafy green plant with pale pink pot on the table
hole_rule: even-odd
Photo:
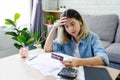
[[[12,39],[16,42],[14,43],[14,46],[18,49],[20,49],[20,53],[28,53],[28,49],[26,49],[27,46],[34,43],[38,38],[38,31],[36,31],[34,34],[29,31],[27,28],[20,28],[17,27],[17,20],[20,18],[20,14],[16,13],[14,15],[14,19],[5,19],[6,25],[11,25],[13,28],[13,31],[6,32],[7,35],[11,35]],[[24,50],[24,51],[23,51]],[[22,57],[27,57],[27,54],[24,54]]]

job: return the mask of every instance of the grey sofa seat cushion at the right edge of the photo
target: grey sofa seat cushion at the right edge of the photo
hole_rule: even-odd
[[[110,61],[120,63],[120,43],[113,43],[106,48]]]

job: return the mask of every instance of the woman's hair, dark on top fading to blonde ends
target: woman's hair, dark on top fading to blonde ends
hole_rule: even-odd
[[[80,21],[80,22],[82,23],[82,25],[80,26],[81,29],[80,29],[80,31],[79,31],[79,33],[78,33],[78,35],[80,36],[80,39],[85,38],[85,37],[88,35],[89,29],[88,29],[88,27],[86,26],[85,22],[84,22],[83,19],[82,19],[82,16],[79,14],[78,11],[76,11],[76,10],[74,10],[74,9],[68,9],[68,10],[64,11],[64,12],[61,14],[60,17],[74,18],[74,19],[76,19],[76,20],[78,20],[78,21]],[[57,39],[58,43],[62,44],[62,43],[70,42],[70,41],[71,41],[71,38],[72,38],[73,36],[71,36],[71,35],[65,30],[64,25],[63,25],[62,27],[58,27],[58,28],[59,28],[58,33],[60,32],[60,33],[59,33],[60,35],[63,34],[63,35],[61,36],[61,38],[58,36],[58,39]],[[61,31],[62,31],[62,33],[61,33]],[[58,34],[58,35],[59,35],[59,34]]]

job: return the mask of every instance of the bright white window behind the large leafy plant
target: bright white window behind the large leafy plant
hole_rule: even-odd
[[[0,0],[0,27],[5,25],[6,18],[13,19],[16,12],[21,14],[18,26],[29,25],[31,0]]]

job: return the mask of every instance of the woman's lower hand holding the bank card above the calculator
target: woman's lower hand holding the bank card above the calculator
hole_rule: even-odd
[[[73,59],[69,59],[69,60],[64,60],[61,61],[61,63],[63,65],[65,65],[66,67],[79,67],[79,63],[80,63],[80,59],[79,58],[73,58]]]

